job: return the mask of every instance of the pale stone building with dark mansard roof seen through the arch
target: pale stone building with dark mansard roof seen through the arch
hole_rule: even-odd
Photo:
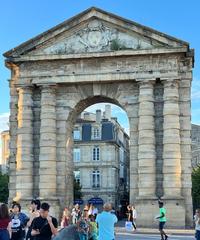
[[[129,137],[111,106],[96,114],[85,113],[76,121],[73,131],[74,175],[82,186],[85,203],[92,198],[112,202],[115,208],[126,199],[129,189]]]

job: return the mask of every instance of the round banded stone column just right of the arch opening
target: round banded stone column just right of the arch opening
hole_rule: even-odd
[[[156,153],[154,83],[139,81],[138,174],[139,198],[155,198]]]

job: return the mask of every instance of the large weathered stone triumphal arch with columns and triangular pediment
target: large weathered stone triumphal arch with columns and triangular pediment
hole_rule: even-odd
[[[88,106],[110,102],[130,123],[130,203],[152,226],[192,222],[193,51],[182,40],[90,8],[6,52],[10,84],[10,201],[32,197],[58,215],[73,203],[72,131]]]

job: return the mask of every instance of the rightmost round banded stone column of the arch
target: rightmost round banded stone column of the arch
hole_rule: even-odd
[[[181,196],[179,89],[177,80],[164,80],[163,191],[164,198]]]

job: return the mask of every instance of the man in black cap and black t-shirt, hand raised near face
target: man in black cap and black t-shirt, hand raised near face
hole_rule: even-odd
[[[31,235],[34,240],[51,240],[57,234],[57,219],[49,215],[50,205],[46,202],[41,204],[40,216],[33,220]]]

